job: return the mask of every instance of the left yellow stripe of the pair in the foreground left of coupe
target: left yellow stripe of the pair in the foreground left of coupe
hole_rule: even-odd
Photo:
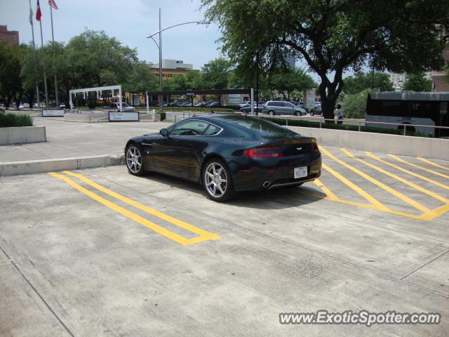
[[[166,230],[165,228],[156,225],[155,223],[152,223],[151,221],[142,218],[141,216],[138,216],[137,214],[128,211],[127,209],[123,209],[122,207],[114,204],[113,202],[100,197],[98,194],[95,194],[94,192],[91,192],[87,190],[86,188],[82,187],[81,185],[75,183],[72,179],[62,176],[58,173],[48,173],[51,176],[55,178],[59,178],[61,180],[64,180],[65,183],[69,184],[70,186],[74,187],[74,189],[79,190],[79,192],[82,192],[83,194],[86,194],[88,197],[91,197],[95,201],[100,202],[100,204],[103,204],[107,206],[109,209],[112,209],[113,211],[116,211],[117,213],[120,213],[123,216],[126,216],[127,218],[130,218],[131,220],[134,220],[136,223],[140,223],[140,225],[144,225],[145,227],[148,227],[151,230],[154,230],[154,232],[157,232],[164,237],[167,237],[168,239],[172,239],[174,242],[177,242],[178,244],[182,244],[183,246],[187,246],[188,244],[192,244],[194,242],[191,242],[192,239],[187,239],[185,237],[182,237],[179,234],[170,232],[169,230]],[[196,238],[194,238],[196,239]]]

